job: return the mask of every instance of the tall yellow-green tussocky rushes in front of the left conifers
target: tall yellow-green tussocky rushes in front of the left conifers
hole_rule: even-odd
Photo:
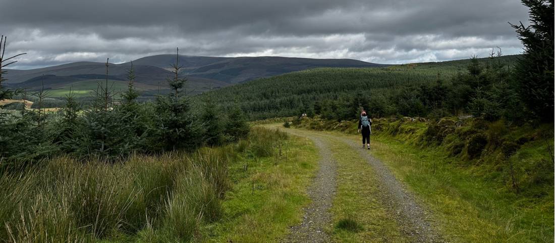
[[[229,165],[243,153],[271,156],[285,133],[255,127],[249,137],[195,152],[83,162],[62,156],[0,177],[0,242],[184,242],[223,215]]]

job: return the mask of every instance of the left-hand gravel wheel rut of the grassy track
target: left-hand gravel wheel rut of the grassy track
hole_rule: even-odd
[[[304,132],[286,130],[295,135],[310,138],[320,151],[319,171],[308,188],[307,193],[312,200],[304,211],[300,225],[292,226],[290,234],[282,242],[330,242],[330,236],[324,231],[331,223],[331,202],[336,192],[336,161],[329,149],[317,137]]]

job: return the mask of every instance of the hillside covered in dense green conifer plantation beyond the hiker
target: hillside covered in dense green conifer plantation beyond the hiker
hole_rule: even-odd
[[[510,66],[517,57],[496,57],[493,62]],[[486,65],[490,60],[480,58],[479,61]],[[386,95],[403,87],[437,80],[451,82],[457,72],[466,72],[469,64],[470,60],[463,59],[382,68],[315,68],[244,82],[205,92],[195,98],[202,101],[210,96],[224,108],[237,102],[252,120],[287,117],[304,113],[310,107],[319,109],[319,101],[349,102],[352,98]]]

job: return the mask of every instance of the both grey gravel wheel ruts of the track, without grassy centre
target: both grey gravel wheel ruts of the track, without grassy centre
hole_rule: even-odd
[[[325,137],[330,141],[345,142],[352,150],[359,151],[362,159],[368,161],[376,173],[377,180],[380,181],[380,185],[378,185],[380,194],[376,196],[380,197],[382,204],[393,215],[401,232],[407,236],[410,242],[446,242],[431,226],[431,213],[423,209],[411,192],[393,176],[391,170],[372,156],[369,150],[362,148],[359,142],[330,133],[292,129],[285,131],[314,141],[321,159],[318,175],[308,190],[312,204],[305,209],[302,223],[291,227],[290,234],[282,242],[331,241],[323,228],[331,224],[331,214],[328,209],[331,207],[336,191],[336,162],[332,159],[329,147],[326,147],[319,137]]]

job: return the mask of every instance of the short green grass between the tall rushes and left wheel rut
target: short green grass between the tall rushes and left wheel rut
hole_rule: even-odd
[[[290,137],[274,156],[247,152],[230,167],[233,189],[223,201],[223,219],[203,229],[203,242],[278,242],[300,222],[309,204],[306,186],[317,166],[317,150],[306,138]],[[279,150],[281,149],[281,156]]]

